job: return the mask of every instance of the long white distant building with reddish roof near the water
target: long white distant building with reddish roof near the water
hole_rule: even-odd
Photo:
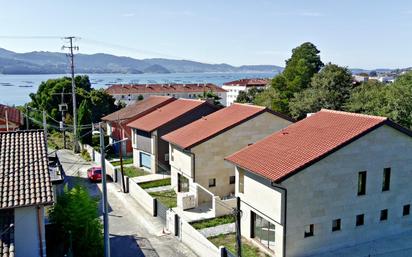
[[[146,99],[149,96],[170,96],[174,98],[199,99],[205,92],[213,92],[221,98],[220,103],[226,106],[226,90],[207,84],[114,84],[106,89],[117,102],[126,104]]]

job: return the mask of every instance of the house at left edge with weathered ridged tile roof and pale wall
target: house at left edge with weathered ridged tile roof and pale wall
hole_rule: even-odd
[[[43,131],[0,132],[0,173],[0,255],[45,257],[53,186]]]

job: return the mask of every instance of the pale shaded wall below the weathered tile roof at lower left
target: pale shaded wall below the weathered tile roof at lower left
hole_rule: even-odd
[[[46,256],[46,240],[44,228],[44,209],[41,207],[41,230],[43,240],[43,256]],[[38,257],[40,255],[39,231],[37,225],[37,207],[14,209],[14,241],[16,257]]]

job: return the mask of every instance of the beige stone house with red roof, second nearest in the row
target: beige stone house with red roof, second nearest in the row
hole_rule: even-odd
[[[212,206],[213,196],[233,198],[235,172],[224,158],[291,123],[265,107],[232,104],[163,136],[170,143],[171,180],[178,199],[189,193],[196,206]]]

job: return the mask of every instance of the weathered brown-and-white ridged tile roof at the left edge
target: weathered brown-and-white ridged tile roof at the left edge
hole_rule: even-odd
[[[52,202],[44,132],[0,133],[0,209]]]

